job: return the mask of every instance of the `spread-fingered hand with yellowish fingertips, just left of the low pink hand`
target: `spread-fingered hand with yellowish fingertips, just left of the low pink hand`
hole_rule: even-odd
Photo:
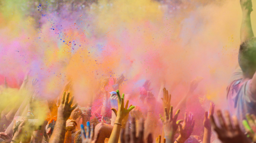
[[[178,119],[180,109],[176,112],[173,117],[173,106],[170,107],[169,113],[167,112],[167,108],[164,108],[165,111],[165,119],[160,114],[160,119],[163,123],[163,130],[164,130],[164,137],[166,138],[167,142],[174,141],[175,132],[178,129],[178,126],[181,124],[183,120],[176,120]]]

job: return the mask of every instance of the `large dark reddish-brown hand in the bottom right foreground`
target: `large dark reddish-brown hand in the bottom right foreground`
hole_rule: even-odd
[[[216,122],[213,116],[210,116],[210,120],[211,120],[213,129],[218,134],[218,138],[223,143],[249,143],[250,142],[246,138],[244,133],[241,131],[238,120],[235,116],[233,118],[234,126],[231,123],[232,120],[230,119],[230,115],[228,111],[225,112],[225,120],[220,110],[217,111],[217,116],[220,122],[220,127],[216,125]]]

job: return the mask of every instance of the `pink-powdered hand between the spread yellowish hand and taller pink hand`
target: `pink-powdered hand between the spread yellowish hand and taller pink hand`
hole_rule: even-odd
[[[185,113],[184,124],[179,125],[180,135],[177,138],[177,141],[180,143],[185,142],[189,138],[189,136],[192,134],[194,126],[195,126],[194,115],[191,112],[189,112],[189,115],[187,117],[187,113]]]

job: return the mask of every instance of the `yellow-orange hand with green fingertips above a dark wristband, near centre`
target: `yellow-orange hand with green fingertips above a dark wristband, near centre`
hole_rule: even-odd
[[[135,107],[133,105],[130,105],[128,108],[129,100],[127,100],[125,106],[124,106],[124,94],[122,97],[119,94],[119,90],[117,90],[117,97],[118,97],[118,110],[115,108],[111,108],[117,115],[116,122],[121,123],[123,119],[128,119],[128,115],[130,111]]]

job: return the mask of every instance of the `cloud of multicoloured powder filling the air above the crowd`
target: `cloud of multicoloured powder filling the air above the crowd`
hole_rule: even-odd
[[[121,93],[138,96],[138,81],[149,79],[152,92],[160,95],[158,102],[163,85],[175,106],[190,81],[202,76],[190,98],[209,99],[216,108],[226,108],[225,89],[238,64],[239,2],[99,0],[73,11],[54,9],[56,2],[40,5],[38,11],[37,1],[1,1],[0,84],[7,77],[11,87],[19,87],[31,70],[29,82],[39,79],[40,96],[55,99],[72,79],[73,95],[84,106],[102,98],[94,95],[103,78],[123,73],[128,80],[120,86]],[[254,19],[252,27],[255,31]],[[113,79],[108,92],[111,84]],[[196,112],[194,100],[188,104]],[[96,104],[102,105],[102,100]]]

